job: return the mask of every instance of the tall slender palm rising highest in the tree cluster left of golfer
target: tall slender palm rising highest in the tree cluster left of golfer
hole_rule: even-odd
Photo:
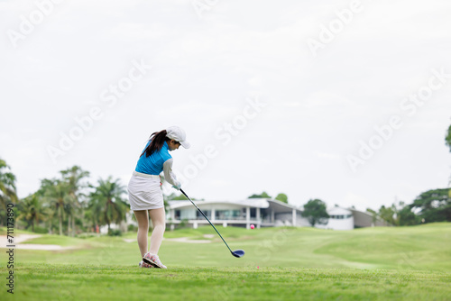
[[[63,180],[68,184],[68,202],[64,209],[68,214],[68,235],[75,236],[75,218],[76,214],[82,212],[82,205],[79,197],[85,196],[80,190],[88,187],[87,183],[81,183],[83,178],[89,177],[89,172],[81,169],[79,166],[73,166],[70,169],[60,171]],[[82,214],[80,214],[82,215]],[[83,216],[81,216],[83,220]],[[70,227],[72,232],[69,232]]]

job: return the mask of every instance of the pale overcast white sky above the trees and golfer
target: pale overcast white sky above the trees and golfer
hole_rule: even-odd
[[[344,24],[336,12],[351,6]],[[126,185],[150,134],[179,125],[193,146],[172,156],[189,196],[411,203],[451,175],[450,12],[446,0],[2,0],[0,157],[21,197],[73,165]],[[419,93],[422,105],[404,100]],[[265,106],[248,107],[256,99]],[[81,138],[52,160],[70,133]],[[361,141],[381,147],[353,171]]]

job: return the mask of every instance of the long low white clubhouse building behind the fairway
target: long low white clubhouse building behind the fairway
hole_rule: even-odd
[[[198,228],[208,224],[198,209],[189,201],[170,201],[166,224],[170,229],[180,224]],[[249,229],[296,226],[309,227],[302,217],[302,208],[270,198],[248,198],[243,201],[196,201],[199,209],[207,215],[211,223],[223,226],[237,226]],[[389,225],[373,217],[372,214],[355,209],[331,207],[327,209],[326,224],[316,225],[321,229],[352,230],[354,228]]]

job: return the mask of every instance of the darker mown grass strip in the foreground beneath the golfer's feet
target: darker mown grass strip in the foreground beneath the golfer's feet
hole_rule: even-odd
[[[2,300],[449,300],[451,274],[278,268],[136,269],[36,264]]]

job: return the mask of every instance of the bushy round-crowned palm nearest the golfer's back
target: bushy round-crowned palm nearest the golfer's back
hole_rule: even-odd
[[[89,208],[95,215],[94,219],[101,225],[108,225],[108,233],[111,231],[111,223],[121,223],[126,220],[129,208],[123,195],[125,187],[119,183],[119,179],[113,181],[112,177],[106,180],[99,179],[96,190],[91,193]]]

